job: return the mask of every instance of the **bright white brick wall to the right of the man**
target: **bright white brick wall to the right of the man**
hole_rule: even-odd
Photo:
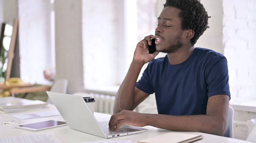
[[[223,0],[223,44],[231,101],[256,98],[256,0]]]

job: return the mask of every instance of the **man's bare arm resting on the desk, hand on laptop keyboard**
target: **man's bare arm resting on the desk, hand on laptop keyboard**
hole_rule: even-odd
[[[110,129],[117,131],[122,125],[154,126],[161,129],[182,132],[204,132],[212,135],[224,135],[227,125],[228,95],[211,96],[207,104],[206,115],[160,115],[142,114],[123,110],[111,116]]]

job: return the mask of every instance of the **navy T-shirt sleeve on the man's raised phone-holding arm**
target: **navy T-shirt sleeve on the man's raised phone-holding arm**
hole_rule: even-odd
[[[154,90],[150,81],[150,73],[151,73],[150,69],[151,69],[151,62],[149,62],[148,66],[146,67],[146,69],[142,74],[141,79],[136,83],[135,86],[145,93],[153,94]]]

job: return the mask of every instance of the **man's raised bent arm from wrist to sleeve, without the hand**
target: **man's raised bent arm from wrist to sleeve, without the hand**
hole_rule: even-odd
[[[143,67],[141,62],[133,61],[128,73],[116,93],[114,114],[122,110],[134,110],[149,94],[144,93],[135,87],[140,70]]]

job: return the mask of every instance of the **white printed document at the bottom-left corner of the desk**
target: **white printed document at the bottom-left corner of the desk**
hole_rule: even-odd
[[[0,137],[0,143],[61,143],[53,134]]]

